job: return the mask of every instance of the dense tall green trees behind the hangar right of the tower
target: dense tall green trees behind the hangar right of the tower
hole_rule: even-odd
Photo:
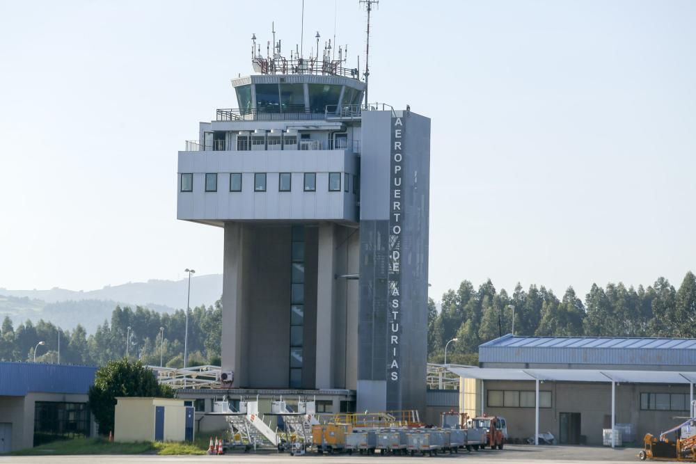
[[[686,273],[679,289],[661,277],[647,288],[621,282],[606,287],[592,285],[580,299],[573,287],[562,298],[546,287],[518,283],[508,294],[496,291],[489,279],[475,289],[464,280],[456,291],[442,296],[438,311],[428,303],[428,353],[431,362],[443,362],[445,344],[448,362],[475,364],[478,346],[512,333],[555,337],[696,337],[696,276]]]

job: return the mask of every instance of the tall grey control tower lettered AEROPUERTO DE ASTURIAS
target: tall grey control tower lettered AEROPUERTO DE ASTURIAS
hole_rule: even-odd
[[[237,107],[177,167],[177,218],[224,229],[227,386],[423,413],[430,120],[363,103],[331,42],[285,56],[274,37],[262,56],[252,40]]]

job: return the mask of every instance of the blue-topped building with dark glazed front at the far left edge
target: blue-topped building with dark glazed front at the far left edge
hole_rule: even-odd
[[[0,453],[88,437],[96,367],[0,362]]]

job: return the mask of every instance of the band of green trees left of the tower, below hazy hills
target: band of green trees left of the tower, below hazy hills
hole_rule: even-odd
[[[36,361],[58,362],[60,337],[61,364],[106,365],[124,358],[127,351],[129,360],[140,360],[143,365],[159,365],[161,353],[164,365],[182,367],[185,326],[184,310],[166,314],[140,306],[133,310],[117,305],[111,321],[105,320],[91,335],[80,324],[74,330],[63,330],[44,320],[26,321],[15,328],[6,317],[0,328],[0,360],[32,361],[37,344],[45,342],[38,346]],[[160,328],[164,328],[164,338]],[[221,301],[191,308],[187,365],[220,365],[221,337]]]

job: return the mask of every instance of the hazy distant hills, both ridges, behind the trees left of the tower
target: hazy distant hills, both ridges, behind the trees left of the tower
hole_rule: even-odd
[[[184,308],[188,283],[187,279],[149,280],[92,291],[0,288],[0,320],[9,316],[16,327],[27,319],[32,322],[43,319],[70,330],[81,323],[88,333],[94,333],[99,324],[111,319],[116,305],[139,305],[158,312]],[[221,274],[191,278],[191,307],[212,305],[221,295]]]

